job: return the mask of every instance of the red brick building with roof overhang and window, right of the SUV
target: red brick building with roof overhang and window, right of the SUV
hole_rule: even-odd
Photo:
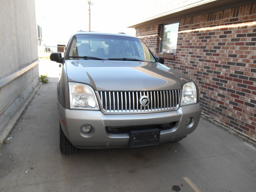
[[[255,1],[180,7],[130,27],[168,67],[198,84],[205,118],[256,145]]]

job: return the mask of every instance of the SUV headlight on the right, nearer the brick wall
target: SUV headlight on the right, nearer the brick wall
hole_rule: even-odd
[[[188,82],[183,85],[180,106],[196,103],[196,85],[194,82]]]

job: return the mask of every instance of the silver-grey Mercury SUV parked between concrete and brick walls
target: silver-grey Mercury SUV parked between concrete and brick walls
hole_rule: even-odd
[[[60,150],[157,145],[179,141],[200,119],[198,88],[154,57],[139,38],[78,32],[58,81]]]

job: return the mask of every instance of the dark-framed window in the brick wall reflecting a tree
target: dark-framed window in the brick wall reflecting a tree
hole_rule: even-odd
[[[162,25],[160,50],[162,54],[175,54],[178,40],[179,22]]]

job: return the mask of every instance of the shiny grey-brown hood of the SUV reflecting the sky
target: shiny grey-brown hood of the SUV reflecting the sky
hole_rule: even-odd
[[[66,60],[64,65],[69,82],[89,84],[97,91],[180,90],[192,81],[154,62]]]

